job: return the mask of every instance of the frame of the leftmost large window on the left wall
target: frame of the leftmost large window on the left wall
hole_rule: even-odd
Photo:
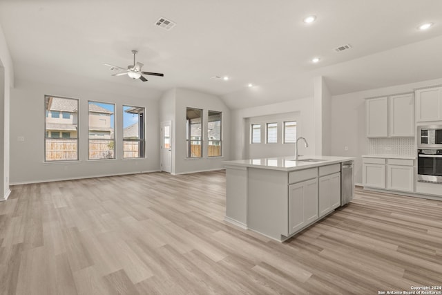
[[[76,142],[76,157],[73,159],[61,159],[61,160],[48,160],[48,149],[47,149],[47,140],[66,140],[66,137],[62,137],[62,131],[58,131],[59,132],[59,137],[52,137],[52,131],[48,131],[48,129],[46,128],[46,121],[48,119],[52,119],[52,111],[48,110],[48,101],[51,98],[59,98],[59,99],[71,99],[71,100],[75,100],[77,102],[77,123],[75,123],[75,125],[77,126],[77,137],[69,137],[70,140],[77,140]],[[74,98],[74,97],[63,97],[63,96],[56,96],[56,95],[44,95],[44,111],[45,111],[45,115],[44,115],[44,162],[45,163],[57,163],[57,162],[78,162],[79,161],[79,146],[80,146],[80,130],[79,130],[79,99],[78,98]],[[59,112],[59,117],[55,117],[54,119],[62,119],[60,117],[61,111]],[[50,113],[50,115],[49,115]],[[74,123],[73,123],[74,124]],[[57,131],[55,131],[57,132]],[[71,132],[71,131],[69,131]]]

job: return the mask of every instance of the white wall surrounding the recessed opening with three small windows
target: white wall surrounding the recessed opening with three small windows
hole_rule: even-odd
[[[315,154],[315,121],[314,121],[314,97],[306,97],[302,99],[294,99],[289,102],[280,102],[278,104],[268,104],[265,106],[256,106],[252,108],[241,108],[232,111],[232,146],[231,158],[232,160],[241,160],[248,158],[248,142],[249,137],[245,130],[248,118],[260,116],[282,115],[285,113],[297,114],[297,137],[305,137],[309,142],[309,147],[306,149],[304,144],[299,145],[299,153],[301,155]],[[250,121],[250,120],[249,120]],[[286,150],[287,149],[287,150]],[[284,149],[273,151],[276,155],[294,155],[294,148],[290,149],[285,146]],[[263,155],[265,157],[266,155]]]

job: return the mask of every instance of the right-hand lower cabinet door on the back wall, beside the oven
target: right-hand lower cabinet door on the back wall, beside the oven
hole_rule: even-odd
[[[414,167],[387,165],[387,189],[414,191]]]

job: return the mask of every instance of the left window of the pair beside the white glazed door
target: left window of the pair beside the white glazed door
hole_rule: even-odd
[[[202,110],[186,108],[186,153],[187,158],[202,157]]]

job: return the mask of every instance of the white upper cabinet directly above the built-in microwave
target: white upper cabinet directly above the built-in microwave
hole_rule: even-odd
[[[416,91],[416,122],[442,120],[442,87]]]

